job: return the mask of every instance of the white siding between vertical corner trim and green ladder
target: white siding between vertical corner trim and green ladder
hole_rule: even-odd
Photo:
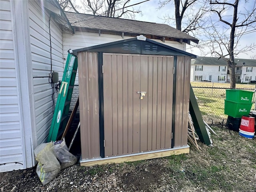
[[[51,72],[50,33],[52,42],[52,71],[63,76],[62,30],[51,17],[42,10],[37,1],[29,2],[30,43],[33,74],[34,107],[36,118],[37,144],[46,142],[52,122],[52,86],[49,83]],[[56,100],[55,93],[55,100]]]

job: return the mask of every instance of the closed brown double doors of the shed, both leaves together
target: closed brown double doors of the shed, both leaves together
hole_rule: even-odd
[[[171,148],[174,57],[104,53],[103,66],[105,157]]]

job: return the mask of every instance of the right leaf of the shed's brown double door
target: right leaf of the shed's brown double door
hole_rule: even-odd
[[[141,57],[141,151],[171,147],[173,64],[173,56]]]

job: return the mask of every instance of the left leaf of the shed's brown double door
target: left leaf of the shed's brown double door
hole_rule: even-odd
[[[103,65],[105,156],[140,152],[140,56],[103,54]]]

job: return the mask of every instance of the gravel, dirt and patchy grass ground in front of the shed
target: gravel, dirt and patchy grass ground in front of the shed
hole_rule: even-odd
[[[43,186],[36,168],[1,173],[1,192],[256,192],[256,139],[214,128],[213,146],[189,154],[138,162],[80,167]]]

